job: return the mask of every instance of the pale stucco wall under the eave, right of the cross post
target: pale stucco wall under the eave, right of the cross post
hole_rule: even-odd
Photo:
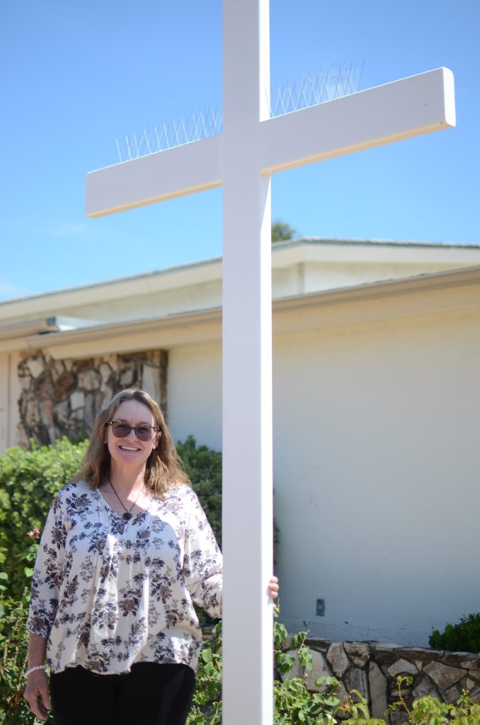
[[[276,339],[289,629],[426,645],[479,610],[479,356],[479,311]]]

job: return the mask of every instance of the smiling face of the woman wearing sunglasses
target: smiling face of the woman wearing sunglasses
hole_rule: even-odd
[[[112,421],[115,423],[126,423],[127,426],[155,426],[154,417],[149,407],[138,400],[124,400],[117,407]],[[145,465],[147,458],[154,448],[157,447],[160,435],[154,431],[152,439],[141,441],[136,437],[136,432],[131,431],[123,438],[116,438],[112,433],[112,426],[106,426],[107,432],[105,442],[112,456],[112,463],[121,466],[134,466],[141,468]],[[114,463],[115,462],[115,463]]]

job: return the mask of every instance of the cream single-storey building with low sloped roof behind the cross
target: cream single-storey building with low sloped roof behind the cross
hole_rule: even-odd
[[[480,247],[282,242],[273,298],[282,619],[426,645],[479,609]],[[135,381],[221,448],[220,259],[0,303],[1,450]]]

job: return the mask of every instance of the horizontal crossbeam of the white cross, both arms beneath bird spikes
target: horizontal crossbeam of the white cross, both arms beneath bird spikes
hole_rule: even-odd
[[[225,67],[225,79],[230,77]],[[247,124],[246,109],[239,103],[239,86],[225,80],[226,90],[227,86],[236,96],[234,107],[243,124],[242,149],[258,148],[257,168],[263,174],[455,126],[453,75],[448,68],[271,119],[265,115],[267,96],[263,91],[262,123],[249,120]],[[224,137],[225,133],[204,138],[89,173],[86,214],[101,217],[221,186]]]

